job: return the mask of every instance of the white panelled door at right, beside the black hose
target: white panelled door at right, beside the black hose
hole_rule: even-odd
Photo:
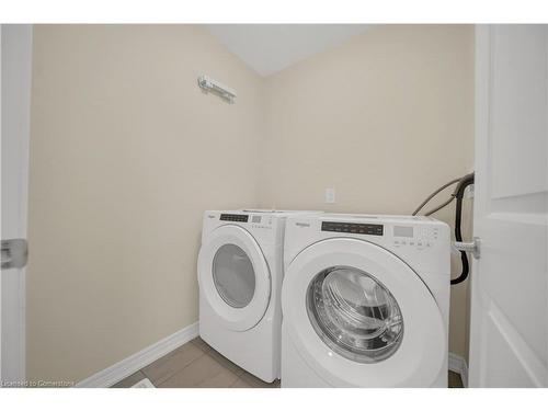
[[[469,385],[548,386],[548,31],[476,32]]]

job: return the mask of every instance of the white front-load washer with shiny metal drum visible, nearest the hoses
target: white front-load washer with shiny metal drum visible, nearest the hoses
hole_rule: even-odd
[[[430,217],[289,218],[282,387],[447,387],[449,254]]]

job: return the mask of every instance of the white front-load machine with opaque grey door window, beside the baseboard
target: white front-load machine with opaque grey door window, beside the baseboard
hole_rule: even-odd
[[[198,255],[199,335],[264,381],[279,378],[286,218],[313,212],[206,212]]]

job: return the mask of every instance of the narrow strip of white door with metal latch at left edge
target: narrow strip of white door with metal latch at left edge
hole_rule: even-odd
[[[1,27],[2,96],[2,271],[0,293],[0,380],[23,381],[25,377],[25,271],[23,241],[26,238],[26,193],[31,107],[32,26]],[[7,260],[11,260],[9,267]]]

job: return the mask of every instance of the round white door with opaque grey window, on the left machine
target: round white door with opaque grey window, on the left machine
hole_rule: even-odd
[[[239,226],[221,226],[202,244],[198,284],[202,296],[230,330],[249,330],[269,307],[269,265],[256,241]]]

